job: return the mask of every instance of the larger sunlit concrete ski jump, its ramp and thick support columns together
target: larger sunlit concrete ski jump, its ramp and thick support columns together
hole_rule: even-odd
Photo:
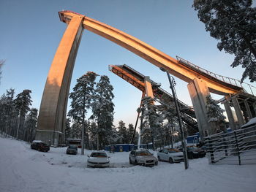
[[[36,139],[51,142],[53,145],[64,142],[69,85],[84,28],[115,42],[151,64],[163,68],[170,74],[188,82],[188,89],[201,135],[208,131],[210,127],[206,118],[206,96],[210,92],[227,96],[227,107],[233,101],[233,106],[236,106],[237,115],[242,122],[243,117],[239,103],[237,99],[235,101],[230,97],[244,92],[241,83],[237,80],[230,78],[225,80],[226,77],[222,76],[214,77],[211,72],[204,72],[198,67],[196,69],[187,61],[172,58],[123,31],[85,15],[71,11],[61,11],[59,12],[59,18],[62,22],[67,23],[67,29],[56,50],[45,83],[39,110]],[[219,79],[219,77],[222,77],[222,79]],[[248,106],[246,108],[248,109]],[[255,116],[255,110],[253,111],[250,106],[249,110],[251,112],[247,111],[247,113]]]

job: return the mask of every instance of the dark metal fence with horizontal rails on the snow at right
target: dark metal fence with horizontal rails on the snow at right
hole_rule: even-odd
[[[256,164],[256,126],[205,137],[210,164]]]

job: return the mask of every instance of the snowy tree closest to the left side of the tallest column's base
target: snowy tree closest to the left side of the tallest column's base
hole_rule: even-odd
[[[26,116],[24,139],[26,142],[32,142],[36,136],[37,113],[38,110],[36,108],[31,108],[29,115]]]

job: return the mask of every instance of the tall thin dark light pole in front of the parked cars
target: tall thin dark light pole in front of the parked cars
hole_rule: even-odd
[[[182,143],[182,148],[183,148],[183,156],[184,156],[184,166],[185,166],[185,169],[188,169],[189,168],[189,161],[187,159],[187,145],[186,145],[186,140],[185,140],[185,137],[184,137],[184,131],[183,131],[183,126],[182,126],[182,119],[181,119],[181,112],[180,112],[180,109],[178,107],[178,101],[177,101],[177,96],[176,96],[176,90],[174,88],[175,86],[175,82],[174,82],[174,79],[172,77],[172,79],[170,78],[170,74],[169,72],[167,72],[164,68],[160,68],[163,72],[166,72],[167,74],[167,77],[168,77],[168,80],[170,82],[170,89],[172,90],[172,93],[173,93],[173,100],[174,100],[174,103],[175,103],[175,108],[176,108],[176,112],[177,112],[177,115],[178,115],[178,125],[179,125],[179,128],[180,128],[180,132],[181,132],[181,143]]]

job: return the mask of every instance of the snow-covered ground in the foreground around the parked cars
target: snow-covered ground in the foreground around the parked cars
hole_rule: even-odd
[[[256,164],[211,165],[207,158],[184,164],[129,165],[129,153],[110,153],[110,168],[86,167],[87,155],[66,155],[66,147],[48,153],[26,142],[0,137],[0,191],[207,191],[255,192]],[[156,154],[156,153],[155,153]]]

